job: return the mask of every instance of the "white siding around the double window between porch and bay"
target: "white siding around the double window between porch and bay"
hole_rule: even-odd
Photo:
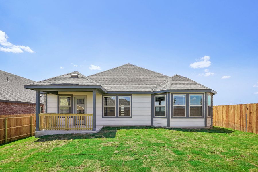
[[[132,95],[132,118],[102,118],[102,95],[96,95],[97,126],[150,126],[151,95]]]

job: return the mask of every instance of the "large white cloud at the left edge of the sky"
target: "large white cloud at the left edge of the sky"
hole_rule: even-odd
[[[0,51],[3,52],[13,52],[13,53],[22,53],[23,51],[33,53],[28,46],[24,45],[13,45],[11,42],[7,41],[7,34],[0,30]]]

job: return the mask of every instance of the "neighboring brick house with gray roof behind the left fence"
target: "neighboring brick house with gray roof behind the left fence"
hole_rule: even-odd
[[[34,114],[35,91],[24,88],[34,82],[0,70],[0,115]],[[44,95],[40,96],[40,111],[44,113]]]

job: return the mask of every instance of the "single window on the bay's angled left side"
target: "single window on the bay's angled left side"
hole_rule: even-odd
[[[166,112],[166,96],[157,95],[155,96],[155,117],[165,117]]]

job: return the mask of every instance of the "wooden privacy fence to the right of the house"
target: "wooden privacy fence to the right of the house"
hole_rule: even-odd
[[[213,106],[213,126],[258,134],[258,103]]]

